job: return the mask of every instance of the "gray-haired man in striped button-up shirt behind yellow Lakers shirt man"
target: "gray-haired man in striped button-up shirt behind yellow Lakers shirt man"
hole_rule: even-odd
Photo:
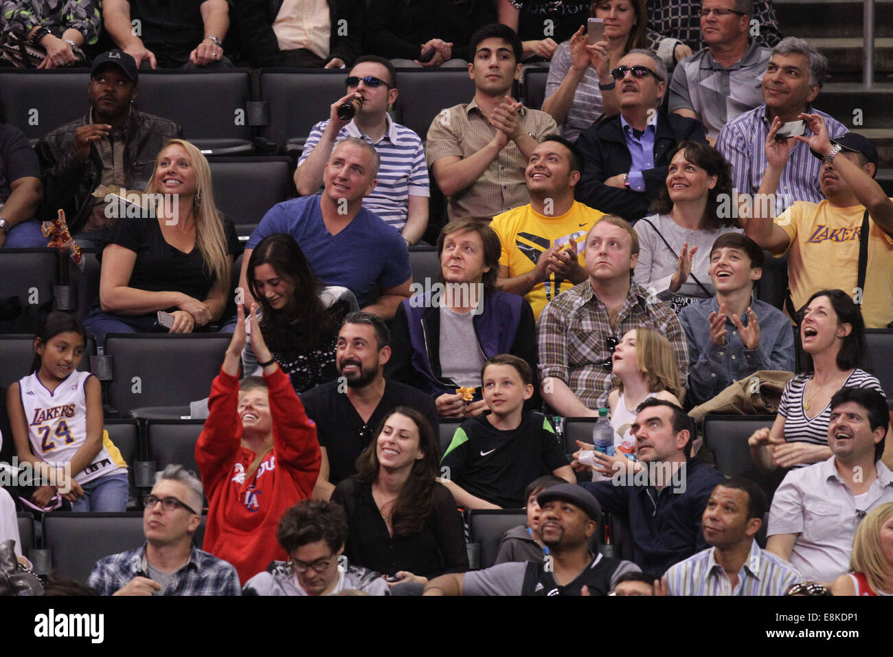
[[[782,124],[797,122],[794,134],[802,134],[806,139],[813,131],[801,122],[800,114],[822,116],[831,138],[847,131],[811,105],[819,95],[827,68],[825,56],[802,38],[783,38],[772,48],[763,77],[763,105],[726,123],[716,141],[716,147],[732,165],[732,187],[739,194],[753,197],[760,189],[766,171],[766,138],[776,116]],[[824,199],[819,184],[821,169],[822,160],[813,157],[805,143],[796,142],[781,174],[772,208],[774,215],[780,215],[794,201],[820,203]]]

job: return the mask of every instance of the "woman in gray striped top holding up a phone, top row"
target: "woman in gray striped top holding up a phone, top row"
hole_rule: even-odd
[[[555,50],[546,80],[543,112],[552,115],[571,141],[602,114],[620,112],[611,70],[633,48],[646,47],[645,0],[597,0],[591,14],[605,21],[605,38],[590,45],[587,28],[581,26]]]

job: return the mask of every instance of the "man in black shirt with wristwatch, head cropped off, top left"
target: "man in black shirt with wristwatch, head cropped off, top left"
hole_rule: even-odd
[[[118,47],[143,68],[232,66],[223,55],[230,29],[226,0],[104,0],[103,21]]]

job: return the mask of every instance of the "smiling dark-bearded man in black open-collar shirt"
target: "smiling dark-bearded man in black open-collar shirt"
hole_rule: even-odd
[[[387,381],[382,374],[390,353],[390,332],[381,318],[351,313],[338,333],[335,366],[340,376],[301,395],[307,417],[316,423],[322,450],[314,500],[328,500],[338,482],[355,474],[357,457],[391,409],[418,410],[438,434],[433,398],[405,383]]]

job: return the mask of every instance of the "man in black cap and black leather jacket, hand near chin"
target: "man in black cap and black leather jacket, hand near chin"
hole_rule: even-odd
[[[52,220],[63,209],[69,231],[79,240],[101,244],[117,222],[117,213],[105,211],[104,198],[93,196],[97,187],[144,190],[164,144],[183,137],[176,123],[133,107],[138,81],[130,55],[121,50],[99,55],[90,72],[87,115],[56,128],[36,147],[43,219]]]

